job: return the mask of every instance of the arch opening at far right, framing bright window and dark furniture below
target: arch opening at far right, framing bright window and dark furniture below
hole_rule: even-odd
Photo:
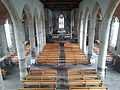
[[[119,2],[118,2],[119,3]],[[118,4],[117,3],[117,4]],[[116,4],[116,5],[117,5]],[[108,38],[108,49],[106,56],[106,66],[108,68],[114,68],[114,70],[120,72],[120,3],[115,7],[109,21],[109,38]],[[109,56],[109,57],[108,57]]]

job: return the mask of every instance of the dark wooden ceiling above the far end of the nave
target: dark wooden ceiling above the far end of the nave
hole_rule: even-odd
[[[82,0],[40,0],[43,2],[45,8],[52,10],[71,10],[73,8],[78,8],[79,3]]]

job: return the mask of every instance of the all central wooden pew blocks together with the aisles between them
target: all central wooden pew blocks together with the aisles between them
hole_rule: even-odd
[[[76,68],[89,64],[77,44],[48,43],[36,63],[19,90],[107,90],[95,68]]]

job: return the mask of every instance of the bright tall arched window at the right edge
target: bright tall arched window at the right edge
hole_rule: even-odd
[[[119,19],[115,17],[112,21],[111,34],[110,34],[110,46],[115,47],[117,43],[117,36],[119,30]]]

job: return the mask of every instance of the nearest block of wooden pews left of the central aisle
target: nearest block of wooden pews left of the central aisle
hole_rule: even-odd
[[[26,80],[22,80],[23,88],[19,90],[55,90],[57,71],[48,68],[31,68]]]

